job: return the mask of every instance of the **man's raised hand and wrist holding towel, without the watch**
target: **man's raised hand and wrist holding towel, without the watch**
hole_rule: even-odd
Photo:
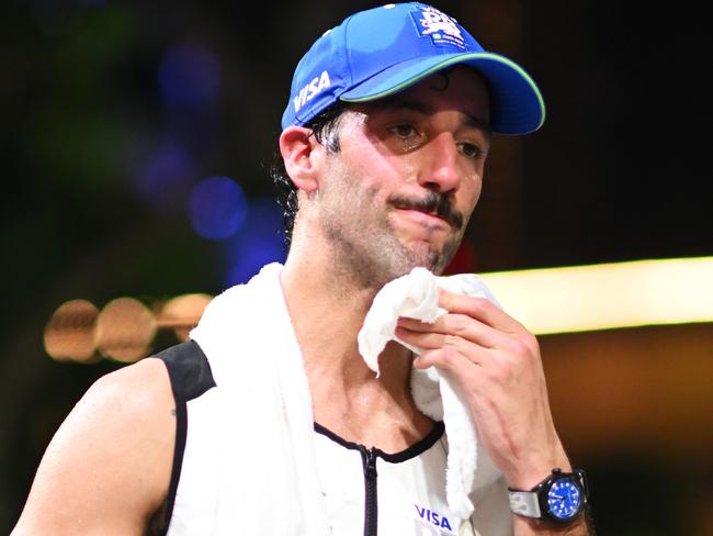
[[[540,346],[519,322],[484,298],[441,291],[446,311],[433,324],[399,320],[399,338],[426,351],[417,368],[455,379],[478,436],[508,485],[530,490],[554,468],[571,470],[554,426]],[[567,527],[514,515],[516,534],[589,534],[584,516]]]

